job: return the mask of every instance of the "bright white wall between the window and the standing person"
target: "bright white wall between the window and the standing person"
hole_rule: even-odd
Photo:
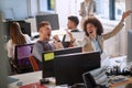
[[[79,16],[80,2],[84,0],[56,0],[56,10],[59,16],[59,25],[61,28],[67,28],[67,16],[77,15]]]

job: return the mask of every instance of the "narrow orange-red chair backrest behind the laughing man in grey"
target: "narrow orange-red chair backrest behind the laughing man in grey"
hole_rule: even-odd
[[[29,56],[29,59],[30,59],[30,63],[31,63],[31,65],[32,65],[33,70],[34,70],[34,72],[40,70],[38,64],[37,64],[37,62],[35,61],[35,57],[34,57],[33,55],[31,55],[31,56]]]

